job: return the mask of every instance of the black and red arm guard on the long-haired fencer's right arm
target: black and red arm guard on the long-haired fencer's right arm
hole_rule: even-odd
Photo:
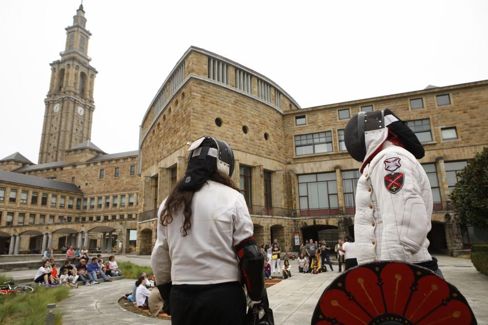
[[[239,257],[247,295],[253,301],[261,301],[264,295],[264,256],[256,246],[254,237],[247,238],[234,249]]]

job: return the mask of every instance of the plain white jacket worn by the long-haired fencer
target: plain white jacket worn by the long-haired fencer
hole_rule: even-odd
[[[158,238],[151,255],[157,284],[208,285],[240,280],[234,246],[252,237],[253,225],[244,196],[223,184],[208,181],[195,192],[191,229],[180,232],[183,209],[163,227],[158,211]]]

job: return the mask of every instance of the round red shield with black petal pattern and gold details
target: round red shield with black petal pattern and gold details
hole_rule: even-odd
[[[459,290],[431,270],[402,262],[351,268],[322,293],[312,325],[475,325]]]

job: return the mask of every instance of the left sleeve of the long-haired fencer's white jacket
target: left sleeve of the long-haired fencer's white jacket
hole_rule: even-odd
[[[154,272],[157,284],[166,284],[171,281],[171,259],[169,258],[169,246],[166,238],[165,227],[160,222],[166,200],[161,203],[158,211],[158,238],[151,254],[151,268]]]

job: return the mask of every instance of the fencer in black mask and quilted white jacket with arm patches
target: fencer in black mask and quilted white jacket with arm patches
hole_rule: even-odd
[[[354,219],[358,262],[405,261],[442,277],[427,250],[432,190],[417,160],[425,155],[417,136],[386,109],[351,117],[345,143],[347,152],[362,162]]]

